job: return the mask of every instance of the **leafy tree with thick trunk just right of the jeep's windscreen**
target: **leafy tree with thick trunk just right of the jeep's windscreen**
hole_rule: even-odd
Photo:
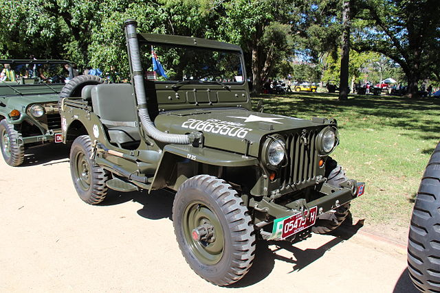
[[[287,0],[225,1],[219,8],[225,10],[220,33],[250,54],[254,91],[261,93],[275,65],[293,52],[298,8]]]

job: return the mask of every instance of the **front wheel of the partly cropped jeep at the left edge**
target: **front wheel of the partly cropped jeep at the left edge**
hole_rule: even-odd
[[[12,166],[17,167],[23,163],[25,158],[25,148],[21,140],[21,133],[14,130],[14,126],[8,124],[3,119],[0,121],[0,148],[1,154],[5,162]]]

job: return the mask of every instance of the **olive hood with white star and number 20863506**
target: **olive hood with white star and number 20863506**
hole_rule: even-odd
[[[169,133],[203,132],[204,145],[208,148],[245,154],[246,141],[250,141],[249,154],[252,156],[258,156],[261,139],[267,134],[298,128],[323,128],[327,125],[307,119],[230,108],[175,110],[162,113],[155,119],[155,126]]]

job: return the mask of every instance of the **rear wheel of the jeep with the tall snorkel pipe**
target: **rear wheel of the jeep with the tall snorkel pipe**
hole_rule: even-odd
[[[88,204],[98,204],[107,196],[109,172],[90,159],[91,152],[90,137],[77,137],[70,149],[70,172],[78,196]]]

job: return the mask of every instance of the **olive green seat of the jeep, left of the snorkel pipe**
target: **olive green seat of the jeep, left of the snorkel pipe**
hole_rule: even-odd
[[[83,98],[87,97],[87,87]],[[91,88],[90,95],[94,113],[107,127],[111,143],[122,148],[123,143],[140,141],[131,84],[98,84]]]

